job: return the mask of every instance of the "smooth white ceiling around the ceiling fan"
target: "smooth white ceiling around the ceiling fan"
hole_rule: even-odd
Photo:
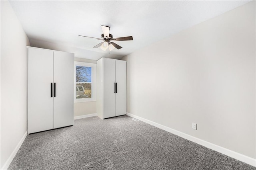
[[[31,46],[68,51],[75,57],[98,60],[108,52],[92,48],[100,40],[100,25],[110,26],[122,49],[110,51],[120,59],[183,29],[214,18],[249,1],[10,1]]]

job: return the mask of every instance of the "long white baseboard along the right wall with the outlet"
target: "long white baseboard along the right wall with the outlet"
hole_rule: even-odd
[[[232,157],[232,158],[235,158],[235,159],[237,159],[237,160],[240,160],[240,161],[242,161],[242,162],[245,162],[246,164],[250,164],[250,165],[256,167],[256,159],[254,159],[254,158],[251,158],[251,157],[249,157],[249,156],[240,154],[240,153],[238,153],[238,152],[234,152],[233,150],[229,150],[229,149],[226,149],[226,148],[224,148],[224,147],[220,147],[220,146],[215,145],[215,144],[213,144],[213,143],[210,143],[210,142],[204,141],[204,140],[202,140],[202,139],[193,137],[193,136],[191,136],[191,135],[188,135],[188,134],[186,134],[186,133],[177,131],[177,130],[172,129],[172,128],[170,128],[170,127],[167,127],[167,126],[164,126],[164,125],[160,125],[160,124],[155,123],[155,122],[153,122],[153,121],[150,121],[150,120],[148,120],[148,119],[144,119],[144,118],[142,118],[142,117],[133,115],[133,114],[131,114],[131,113],[128,113],[128,112],[127,112],[127,115],[130,116],[130,117],[134,117],[134,118],[136,118],[136,119],[139,119],[140,121],[143,121],[143,122],[148,123],[148,124],[150,124],[150,125],[153,125],[153,126],[155,126],[155,127],[158,127],[158,128],[160,128],[160,129],[163,129],[163,130],[165,130],[165,131],[168,131],[168,132],[170,132],[170,133],[173,133],[173,134],[175,134],[175,135],[178,135],[178,136],[180,136],[180,137],[182,137],[182,138],[184,138],[184,139],[188,139],[189,141],[192,141],[192,142],[197,143],[197,144],[199,144],[199,145],[202,145],[202,146],[204,146],[204,147],[210,148],[210,149],[212,149],[212,150],[215,150],[215,151],[217,151],[217,152],[220,152],[220,153],[222,153],[222,154],[225,154],[225,155],[227,155],[227,156],[230,156],[230,157]]]

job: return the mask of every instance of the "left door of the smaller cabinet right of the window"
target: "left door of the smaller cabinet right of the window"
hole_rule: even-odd
[[[103,119],[116,116],[115,60],[103,58]]]

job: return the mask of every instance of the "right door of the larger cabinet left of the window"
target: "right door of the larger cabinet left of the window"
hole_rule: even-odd
[[[74,123],[74,54],[54,51],[54,129]]]

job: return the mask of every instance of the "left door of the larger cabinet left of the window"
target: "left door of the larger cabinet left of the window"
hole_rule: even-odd
[[[28,48],[28,133],[53,128],[51,83],[53,51]]]

